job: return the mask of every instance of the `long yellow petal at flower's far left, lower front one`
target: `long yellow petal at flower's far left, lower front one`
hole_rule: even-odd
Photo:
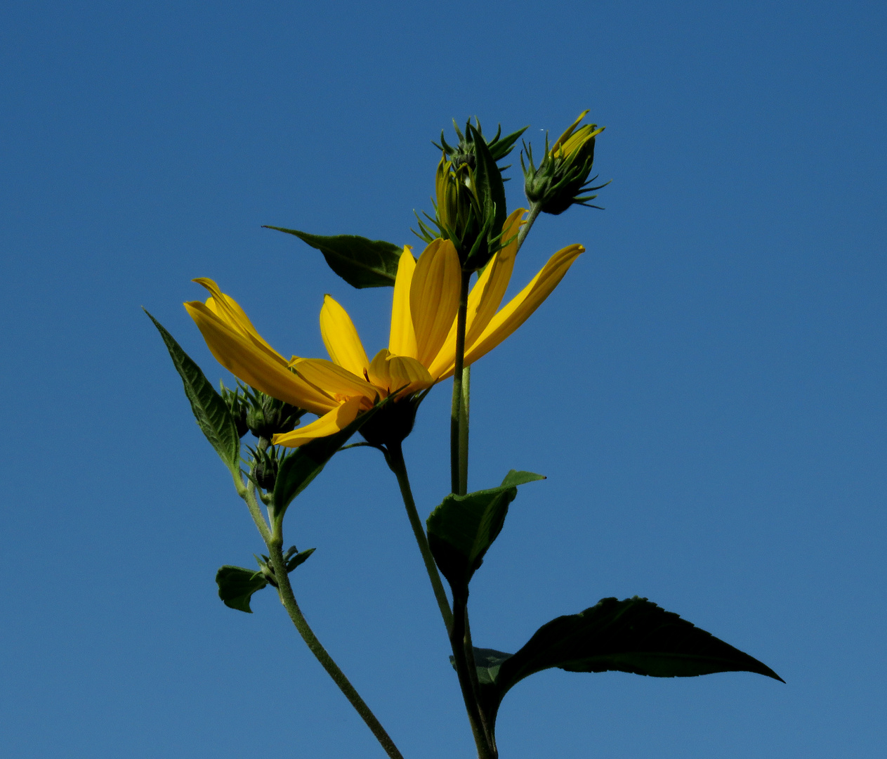
[[[232,375],[256,390],[285,400],[293,406],[306,408],[312,414],[326,414],[335,406],[334,399],[294,375],[287,368],[285,360],[281,363],[279,355],[275,358],[261,350],[220,319],[206,304],[193,301],[184,304],[184,307],[200,328],[203,339],[207,341],[216,360]]]

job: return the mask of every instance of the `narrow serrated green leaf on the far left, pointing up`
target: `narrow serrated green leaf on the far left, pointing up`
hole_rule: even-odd
[[[147,310],[143,310],[154,322],[154,327],[160,331],[173,366],[182,377],[184,394],[191,401],[191,410],[200,425],[200,430],[207,436],[209,444],[216,449],[219,458],[231,470],[232,475],[235,478],[239,477],[240,436],[237,433],[237,424],[234,423],[222,396],[216,392],[216,388],[209,383],[200,371],[200,367],[182,350],[173,336]]]

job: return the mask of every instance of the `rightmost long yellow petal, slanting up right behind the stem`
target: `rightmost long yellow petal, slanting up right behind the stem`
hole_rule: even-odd
[[[546,297],[552,294],[554,288],[563,279],[563,275],[580,254],[585,252],[581,245],[569,245],[558,250],[548,263],[530,281],[524,289],[514,296],[500,312],[491,320],[477,342],[465,352],[465,366],[469,366],[476,360],[491,352],[499,343],[511,335],[515,329],[526,321],[530,314],[542,304]],[[451,376],[452,364],[442,372],[440,379]],[[432,372],[432,375],[434,373]]]

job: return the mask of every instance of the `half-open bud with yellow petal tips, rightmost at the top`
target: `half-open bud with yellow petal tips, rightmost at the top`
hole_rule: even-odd
[[[579,114],[577,120],[569,125],[550,149],[546,136],[546,151],[538,168],[533,162],[532,149],[524,146],[527,162],[524,163],[521,155],[523,189],[527,200],[541,205],[541,210],[545,213],[557,216],[572,205],[600,208],[588,202],[597,195],[583,195],[600,190],[608,184],[605,182],[596,187],[589,186],[589,182],[597,178],[588,178],[594,163],[594,138],[604,127],[598,127],[597,124],[583,124],[580,127],[579,123],[587,114],[588,111]]]

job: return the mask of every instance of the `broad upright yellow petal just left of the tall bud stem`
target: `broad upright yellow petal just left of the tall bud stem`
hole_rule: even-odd
[[[461,281],[462,269],[452,242],[431,242],[419,257],[410,287],[416,358],[423,366],[436,357],[456,318]]]

